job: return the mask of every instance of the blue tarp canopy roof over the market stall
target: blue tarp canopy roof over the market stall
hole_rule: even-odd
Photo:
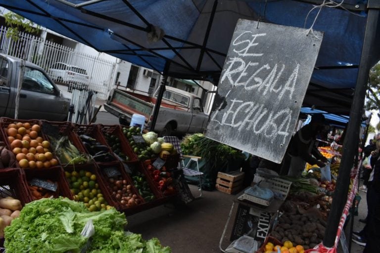
[[[320,9],[316,2],[322,0],[66,1],[84,4],[76,7],[63,0],[0,0],[0,5],[100,52],[175,78],[217,84],[239,18],[310,28]],[[313,29],[323,31],[324,40],[304,106],[349,113],[366,2],[344,0],[339,7],[330,3],[319,12]],[[374,32],[379,37],[379,31]],[[376,48],[368,60],[375,64],[379,59]]]

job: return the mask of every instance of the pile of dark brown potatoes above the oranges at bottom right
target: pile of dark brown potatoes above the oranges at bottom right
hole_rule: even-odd
[[[284,244],[290,241],[302,245],[305,250],[313,249],[320,244],[325,235],[324,221],[306,214],[284,213],[271,236]]]

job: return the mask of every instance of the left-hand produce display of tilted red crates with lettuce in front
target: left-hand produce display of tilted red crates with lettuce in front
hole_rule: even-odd
[[[14,225],[8,229],[12,232],[5,232],[5,248],[9,247],[7,252],[19,252],[14,250],[26,247],[16,233],[25,225],[36,226],[35,222],[40,222],[40,218],[33,221],[28,215],[39,216],[38,211],[34,209],[41,211],[50,205],[59,207],[59,210],[51,215],[41,214],[44,217],[41,219],[46,219],[46,226],[56,224],[56,219],[62,215],[72,216],[76,213],[77,216],[84,215],[90,219],[92,215],[97,217],[96,215],[102,216],[104,213],[105,220],[109,219],[107,215],[117,216],[120,219],[118,225],[109,231],[116,233],[114,240],[129,240],[129,236],[124,235],[122,230],[126,223],[125,215],[180,200],[182,188],[179,187],[181,171],[177,169],[178,163],[179,155],[172,144],[157,138],[154,132],[142,134],[137,127],[86,126],[70,122],[0,118],[0,236],[2,238],[4,238],[3,229],[7,228],[21,211],[21,219],[13,222]],[[65,207],[70,207],[72,211],[65,214]],[[73,220],[67,220],[70,226],[76,222],[84,222],[71,218]],[[79,235],[85,223],[79,230],[75,230],[75,233]],[[64,233],[64,230],[60,229],[65,224],[66,222],[56,224],[58,227],[54,231],[58,234]],[[96,225],[94,221],[96,231],[98,229],[96,226],[99,224]],[[109,223],[110,228],[113,225],[115,224]],[[29,231],[30,235],[24,236],[49,230],[48,227],[39,229],[42,229],[42,232],[32,229]],[[66,227],[66,232],[72,233],[67,229]],[[74,235],[65,236],[62,235],[61,242],[70,240],[71,243],[63,246],[62,243],[47,236],[36,238],[32,247],[39,247],[45,242],[47,249],[61,246],[62,249],[56,252],[67,252],[81,249],[86,244],[85,238],[75,239]],[[94,246],[101,244],[98,241],[99,236],[97,233],[93,237],[88,236],[92,237],[93,241],[90,248],[99,249],[98,246]],[[111,234],[109,236],[112,237]],[[145,241],[141,238],[136,240],[142,248],[145,247]],[[152,243],[157,244],[157,241]],[[120,245],[120,247],[126,249],[122,247],[129,246]],[[139,249],[140,246],[136,247]],[[163,248],[162,252],[170,251]]]

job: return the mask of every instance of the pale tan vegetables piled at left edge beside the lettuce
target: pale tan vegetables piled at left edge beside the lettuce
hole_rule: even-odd
[[[20,216],[21,201],[6,197],[0,199],[0,238],[4,237],[4,228],[9,226],[14,218]]]

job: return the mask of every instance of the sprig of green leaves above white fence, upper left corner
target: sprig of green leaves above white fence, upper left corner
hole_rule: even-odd
[[[35,23],[20,16],[14,12],[7,12],[4,14],[5,24],[9,26],[8,32],[6,33],[7,38],[11,38],[13,41],[19,39],[20,29],[25,30],[27,33],[38,33],[40,31],[40,26],[35,26]]]

